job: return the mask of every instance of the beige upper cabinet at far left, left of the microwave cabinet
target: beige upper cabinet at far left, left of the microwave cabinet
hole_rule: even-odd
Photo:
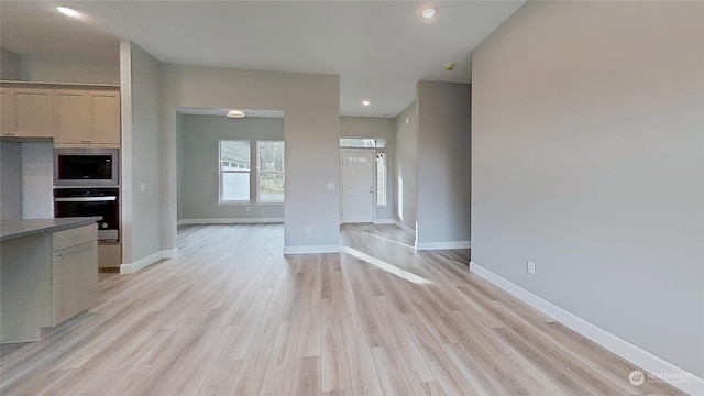
[[[53,91],[41,88],[1,88],[2,136],[52,138]]]

